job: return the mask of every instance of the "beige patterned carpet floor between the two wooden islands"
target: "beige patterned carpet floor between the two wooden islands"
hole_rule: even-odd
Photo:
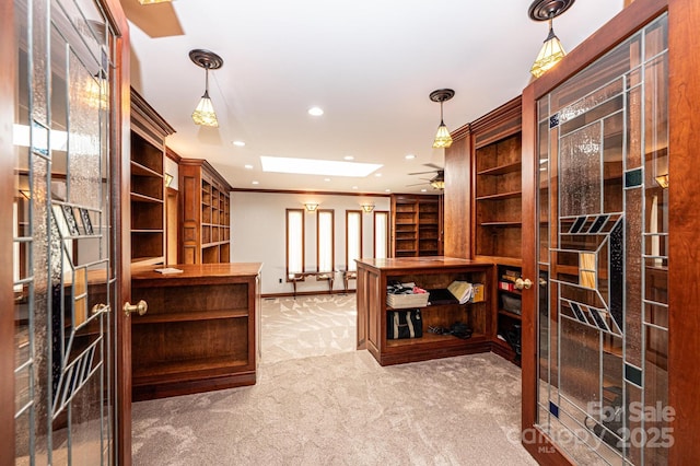
[[[133,405],[136,465],[536,464],[492,353],[382,368],[353,349],[354,295],[266,300],[261,334],[255,386]]]

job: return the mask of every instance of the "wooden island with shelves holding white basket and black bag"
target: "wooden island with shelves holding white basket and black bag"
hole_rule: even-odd
[[[382,365],[423,361],[491,350],[494,328],[491,310],[493,265],[452,257],[400,257],[358,259],[358,349],[366,349]],[[424,290],[446,289],[453,281],[483,284],[480,302],[435,301],[419,306],[422,336],[394,339],[387,337],[387,284],[415,283]],[[405,310],[404,310],[405,311]],[[441,333],[455,323],[466,324],[469,338]],[[430,329],[436,330],[431,333]]]

